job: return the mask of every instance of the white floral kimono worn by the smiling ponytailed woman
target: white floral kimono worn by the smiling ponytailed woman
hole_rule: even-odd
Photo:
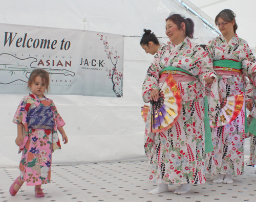
[[[151,133],[150,124],[146,122],[144,149],[152,165],[150,181],[165,184],[203,184],[206,180],[204,77],[215,75],[215,72],[204,49],[190,42],[188,38],[179,45],[169,43],[161,46],[147,70],[142,86],[144,102],[150,102],[151,90],[161,87],[160,71],[167,66],[184,69],[199,78],[185,76],[182,81],[176,80],[181,92],[182,109],[172,128],[161,133]],[[150,110],[148,113],[151,113]]]

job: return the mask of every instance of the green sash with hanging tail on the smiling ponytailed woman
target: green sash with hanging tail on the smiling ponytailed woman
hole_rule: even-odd
[[[178,67],[165,67],[160,71],[160,75],[163,73],[172,73],[176,74],[179,71],[179,74],[183,75],[188,75],[188,76],[193,76],[198,78],[198,75],[193,75],[190,72],[178,68]],[[205,153],[212,152],[214,150],[214,145],[212,144],[212,139],[211,139],[211,130],[210,130],[210,120],[209,120],[209,115],[208,115],[208,98],[207,96],[204,97],[204,108],[205,108],[205,113],[204,113],[204,128],[205,128]]]

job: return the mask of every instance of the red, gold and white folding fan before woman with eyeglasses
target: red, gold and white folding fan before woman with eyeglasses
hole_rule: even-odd
[[[244,103],[244,95],[224,97],[221,103],[218,127],[231,123],[240,114]]]

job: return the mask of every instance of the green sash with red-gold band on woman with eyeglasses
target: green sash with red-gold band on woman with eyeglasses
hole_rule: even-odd
[[[215,60],[214,70],[235,71],[242,73],[242,63],[234,60]]]

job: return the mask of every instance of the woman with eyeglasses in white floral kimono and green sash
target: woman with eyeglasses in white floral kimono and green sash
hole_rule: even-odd
[[[233,183],[231,176],[244,172],[245,76],[256,71],[255,58],[247,42],[238,37],[234,13],[225,9],[215,18],[221,35],[209,41],[206,52],[218,75],[222,116],[212,128],[214,152],[206,154],[206,169],[214,183]],[[230,102],[226,103],[227,100]],[[239,103],[235,106],[234,104]],[[226,107],[230,106],[230,109]],[[235,106],[232,110],[232,106]]]

